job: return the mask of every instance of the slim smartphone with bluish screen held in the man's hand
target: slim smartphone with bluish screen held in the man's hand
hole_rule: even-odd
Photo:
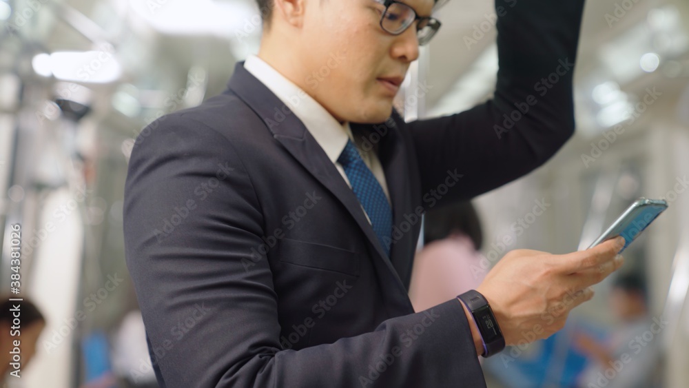
[[[624,237],[624,247],[619,251],[621,253],[667,208],[668,203],[662,199],[639,198],[615,220],[613,225],[610,225],[603,234],[596,238],[589,248],[610,240],[610,238],[622,236]]]

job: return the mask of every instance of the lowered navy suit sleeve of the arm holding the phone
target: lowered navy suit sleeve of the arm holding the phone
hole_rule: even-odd
[[[163,387],[484,387],[456,300],[335,343],[283,349],[264,214],[238,152],[168,117],[139,136],[125,187],[130,270]]]

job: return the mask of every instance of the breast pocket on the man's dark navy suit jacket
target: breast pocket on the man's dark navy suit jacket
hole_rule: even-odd
[[[282,238],[278,244],[278,257],[282,263],[359,276],[360,254],[330,245]]]

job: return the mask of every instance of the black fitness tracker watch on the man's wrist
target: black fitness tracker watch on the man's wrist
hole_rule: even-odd
[[[497,320],[495,320],[495,315],[488,300],[474,289],[458,295],[457,298],[471,312],[471,316],[478,327],[483,343],[484,353],[482,356],[488,358],[493,356],[493,354],[500,353],[505,348],[505,338],[497,325]]]

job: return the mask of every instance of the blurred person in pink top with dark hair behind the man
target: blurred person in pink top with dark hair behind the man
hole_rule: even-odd
[[[417,312],[476,289],[487,273],[478,270],[483,233],[471,202],[430,210],[424,222],[425,245],[414,259],[409,285]]]

